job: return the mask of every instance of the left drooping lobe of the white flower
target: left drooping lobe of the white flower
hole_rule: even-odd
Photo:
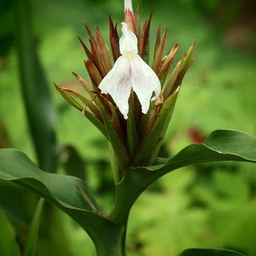
[[[131,92],[130,60],[120,56],[114,64],[113,69],[103,78],[99,84],[102,93],[109,93],[115,104],[127,119],[129,111],[129,97]]]

